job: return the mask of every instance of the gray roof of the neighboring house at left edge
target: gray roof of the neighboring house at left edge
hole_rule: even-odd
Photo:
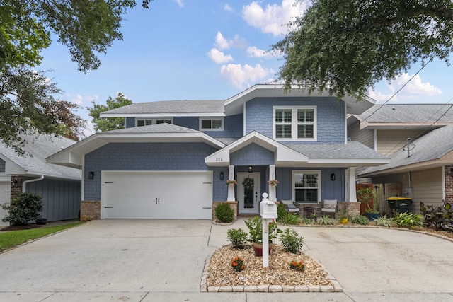
[[[6,162],[5,173],[8,175],[45,175],[51,178],[81,180],[81,170],[47,163],[45,158],[76,142],[65,137],[54,137],[45,134],[38,136],[22,135],[27,144],[25,152],[32,156],[21,156],[13,149],[0,143],[0,158]]]

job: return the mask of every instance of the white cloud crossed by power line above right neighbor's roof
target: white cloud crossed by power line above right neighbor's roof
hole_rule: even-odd
[[[409,81],[411,78],[413,79]],[[407,83],[407,85],[398,93],[398,91],[403,85]],[[378,102],[385,102],[391,98],[391,95],[396,95],[391,98],[391,101],[398,101],[398,100],[414,100],[417,98],[423,98],[425,101],[426,97],[430,97],[433,95],[440,95],[442,94],[442,90],[440,88],[435,87],[430,82],[423,82],[420,78],[420,75],[413,75],[408,74],[405,72],[387,84],[387,88],[389,89],[389,93],[382,93],[380,91],[369,91],[369,96],[377,100]]]

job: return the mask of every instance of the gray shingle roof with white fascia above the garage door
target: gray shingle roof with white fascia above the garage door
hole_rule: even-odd
[[[225,144],[207,134],[176,126],[175,124],[152,124],[142,127],[132,127],[108,132],[97,132],[79,141],[69,148],[60,150],[47,157],[47,162],[68,167],[81,168],[84,155],[110,143],[165,143],[165,142],[202,142],[223,148]]]

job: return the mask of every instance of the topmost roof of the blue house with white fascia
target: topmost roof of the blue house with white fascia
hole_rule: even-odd
[[[243,105],[253,98],[294,98],[294,97],[331,97],[328,91],[309,94],[308,89],[294,87],[288,92],[283,85],[258,84],[234,95],[227,100],[162,100],[147,103],[134,103],[113,110],[102,112],[100,117],[220,117],[237,115],[243,112]],[[335,98],[335,97],[331,97]],[[357,102],[356,98],[345,96],[348,113],[359,114],[374,105],[375,100],[365,98]]]

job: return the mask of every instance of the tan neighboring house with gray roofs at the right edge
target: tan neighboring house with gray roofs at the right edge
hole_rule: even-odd
[[[413,197],[414,211],[419,211],[420,202],[439,206],[442,199],[453,201],[451,108],[449,104],[374,105],[362,115],[350,115],[348,137],[391,160],[357,169],[358,182],[400,183],[397,194]]]

